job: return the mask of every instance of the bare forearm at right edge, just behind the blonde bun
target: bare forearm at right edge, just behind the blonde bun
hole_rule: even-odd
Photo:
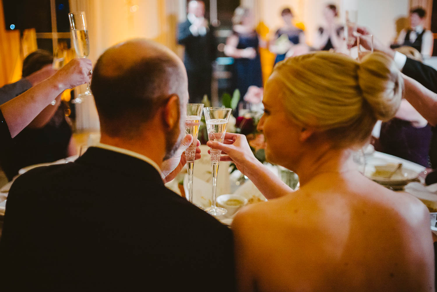
[[[419,82],[402,74],[405,83],[404,98],[432,126],[437,125],[437,94],[425,88]]]

